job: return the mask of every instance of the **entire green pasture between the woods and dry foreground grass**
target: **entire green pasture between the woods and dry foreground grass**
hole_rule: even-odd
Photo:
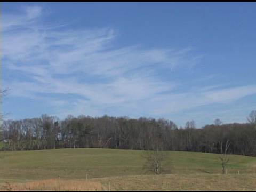
[[[144,151],[145,152],[145,151]],[[105,178],[145,175],[143,151],[121,149],[51,149],[0,151],[0,182]],[[164,174],[222,173],[219,154],[168,151]],[[230,155],[228,173],[256,173],[256,158]],[[148,173],[153,174],[153,173]]]

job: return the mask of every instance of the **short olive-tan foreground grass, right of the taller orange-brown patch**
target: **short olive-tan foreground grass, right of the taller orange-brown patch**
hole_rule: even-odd
[[[100,179],[95,181],[100,181]],[[106,185],[105,179],[100,181]],[[256,191],[256,174],[167,174],[107,178],[110,190],[118,191]]]

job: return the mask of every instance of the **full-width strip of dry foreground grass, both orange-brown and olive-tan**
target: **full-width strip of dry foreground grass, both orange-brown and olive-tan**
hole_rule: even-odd
[[[138,175],[90,180],[48,179],[27,183],[5,183],[2,190],[132,191],[132,190],[256,190],[256,174],[166,174]]]

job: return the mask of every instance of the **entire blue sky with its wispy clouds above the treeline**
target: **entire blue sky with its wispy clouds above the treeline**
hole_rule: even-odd
[[[256,3],[1,3],[2,113],[246,123]]]

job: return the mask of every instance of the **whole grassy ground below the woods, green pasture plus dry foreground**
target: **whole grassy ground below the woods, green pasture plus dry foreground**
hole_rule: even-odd
[[[143,170],[142,153],[98,148],[1,151],[0,183],[2,190],[256,190],[254,157],[230,155],[228,174],[222,175],[218,154],[169,151],[163,174],[154,175]]]

